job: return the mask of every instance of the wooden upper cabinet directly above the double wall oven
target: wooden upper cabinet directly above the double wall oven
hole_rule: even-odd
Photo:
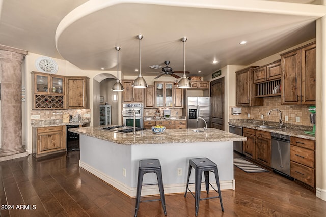
[[[143,103],[144,88],[133,88],[133,80],[122,80],[123,102],[124,103]]]

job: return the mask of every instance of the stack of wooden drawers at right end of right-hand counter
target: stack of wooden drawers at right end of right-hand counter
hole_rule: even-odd
[[[291,177],[315,188],[315,141],[291,137]]]

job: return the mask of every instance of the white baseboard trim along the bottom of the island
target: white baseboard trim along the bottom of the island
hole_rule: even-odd
[[[101,180],[105,181],[106,183],[112,185],[114,188],[118,189],[119,191],[123,192],[124,194],[128,195],[130,198],[136,196],[136,187],[127,186],[124,183],[102,173],[101,171],[96,170],[94,167],[82,162],[79,160],[79,167],[83,168],[84,170],[90,172],[91,174],[95,175],[96,177],[100,178]],[[216,183],[212,184],[215,189]],[[177,194],[177,193],[184,193],[186,188],[186,183],[182,184],[165,184],[164,185],[164,193],[165,194]],[[202,184],[201,187],[203,190],[205,189],[205,183]],[[220,181],[220,188],[221,190],[235,190],[235,180],[226,180]],[[189,185],[189,189],[191,191],[195,191],[194,184]],[[210,191],[213,191],[213,188],[210,187]],[[147,185],[142,187],[142,196],[149,196],[149,195],[159,195],[159,191],[157,185]]]

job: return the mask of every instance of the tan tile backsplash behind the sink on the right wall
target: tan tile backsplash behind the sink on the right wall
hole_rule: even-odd
[[[242,112],[240,115],[232,115],[232,107],[241,107]],[[282,112],[282,120],[284,124],[305,125],[312,126],[310,123],[310,112],[308,111],[309,105],[281,105],[281,99],[279,96],[264,97],[263,106],[232,106],[229,108],[229,117],[232,119],[253,119],[264,120],[269,122],[279,122],[280,114],[277,111],[273,111],[270,115],[267,113],[271,109],[279,109]],[[250,114],[250,117],[248,117]],[[263,115],[263,119],[261,119]],[[285,121],[285,116],[288,116],[288,121]],[[299,117],[300,122],[296,122],[296,117]]]

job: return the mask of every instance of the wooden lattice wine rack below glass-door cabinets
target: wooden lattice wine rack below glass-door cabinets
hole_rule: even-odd
[[[63,96],[35,95],[35,109],[63,109]]]

